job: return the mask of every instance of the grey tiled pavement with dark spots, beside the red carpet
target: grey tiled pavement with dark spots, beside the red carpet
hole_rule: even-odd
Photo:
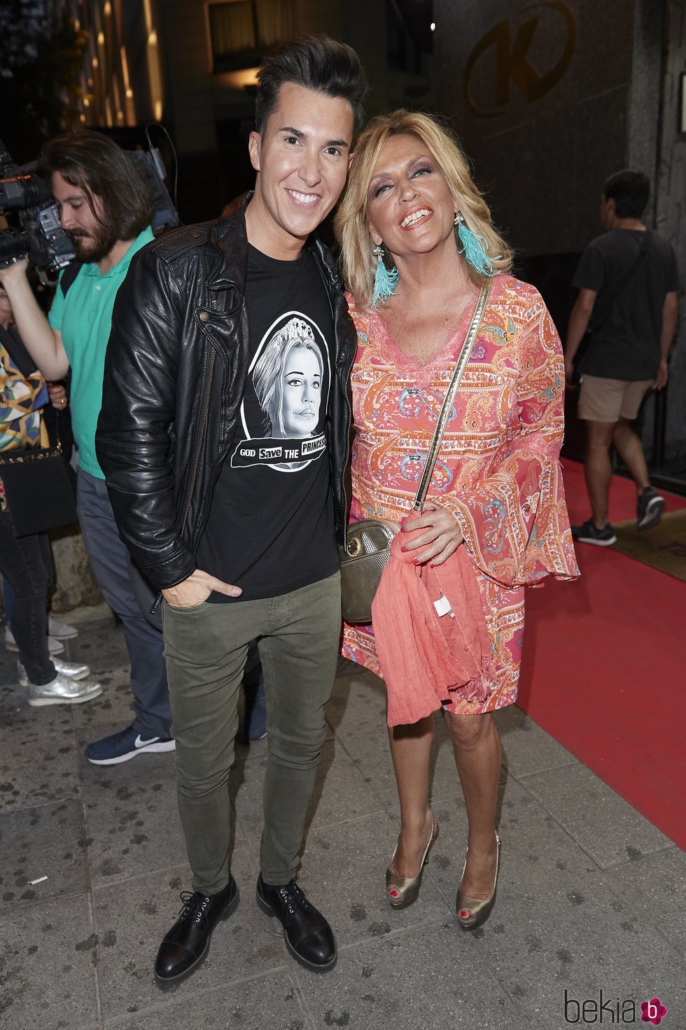
[[[241,745],[229,784],[239,909],[196,974],[160,993],[154,954],[189,883],[174,759],[83,759],[85,743],[130,720],[129,688],[121,630],[102,609],[75,619],[68,656],[102,679],[96,701],[29,709],[0,655],[2,1030],[556,1030],[577,1015],[580,1026],[622,1025],[630,1001],[649,1026],[639,1005],[654,996],[665,1030],[686,1028],[686,856],[517,709],[498,716],[503,856],[491,920],[472,934],[455,920],[466,817],[439,717],[440,835],[419,901],[391,911],[397,797],[383,685],[342,662],[300,876],[335,929],[336,968],[294,964],[254,902],[262,741]]]

